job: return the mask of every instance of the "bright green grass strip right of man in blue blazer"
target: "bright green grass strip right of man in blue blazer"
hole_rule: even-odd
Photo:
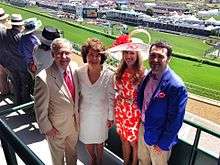
[[[145,66],[148,68],[147,61]],[[183,79],[191,93],[220,100],[220,67],[173,57],[170,67]]]

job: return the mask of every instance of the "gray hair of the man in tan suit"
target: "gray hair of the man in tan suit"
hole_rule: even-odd
[[[57,52],[61,47],[66,46],[70,49],[70,51],[73,52],[73,45],[72,43],[65,39],[65,38],[56,38],[53,40],[53,42],[50,45],[51,52]]]

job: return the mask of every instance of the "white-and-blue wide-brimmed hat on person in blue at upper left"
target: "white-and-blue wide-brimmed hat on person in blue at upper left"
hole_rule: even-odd
[[[41,20],[38,20],[37,18],[28,18],[24,20],[24,31],[22,32],[23,35],[27,35],[30,33],[33,33],[37,29],[39,29],[42,25]]]

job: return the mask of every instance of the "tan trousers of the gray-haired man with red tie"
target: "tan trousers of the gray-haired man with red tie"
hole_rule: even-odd
[[[67,137],[59,136],[56,139],[48,139],[53,165],[76,165],[78,131],[74,131]]]

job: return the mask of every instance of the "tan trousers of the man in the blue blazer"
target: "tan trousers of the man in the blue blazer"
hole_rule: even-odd
[[[138,139],[138,161],[139,165],[167,165],[171,151],[162,151],[157,153],[153,146],[144,142],[144,126],[141,124]]]

